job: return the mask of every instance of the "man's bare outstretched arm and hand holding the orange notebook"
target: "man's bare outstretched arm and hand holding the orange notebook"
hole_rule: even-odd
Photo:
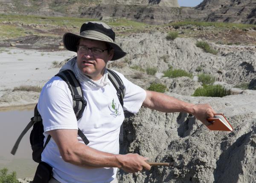
[[[207,118],[212,118],[215,111],[209,104],[191,104],[163,93],[146,90],[143,106],[165,113],[185,112],[195,116],[205,125],[210,125]]]

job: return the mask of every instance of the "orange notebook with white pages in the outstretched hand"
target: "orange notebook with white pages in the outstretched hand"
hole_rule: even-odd
[[[223,114],[214,114],[213,118],[207,118],[212,125],[207,126],[209,130],[233,131],[233,127]]]

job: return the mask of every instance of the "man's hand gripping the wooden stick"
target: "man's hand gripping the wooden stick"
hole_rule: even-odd
[[[120,163],[120,169],[123,169],[125,172],[135,173],[142,171],[143,169],[150,170],[151,166],[146,163],[148,158],[140,156],[138,154],[126,154],[126,155],[117,155],[117,161]]]

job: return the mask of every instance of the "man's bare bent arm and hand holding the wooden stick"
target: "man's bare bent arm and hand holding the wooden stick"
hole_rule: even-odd
[[[58,146],[61,157],[65,162],[85,168],[118,167],[125,172],[149,170],[147,158],[138,154],[114,155],[98,151],[77,139],[77,130],[58,129],[47,132]]]

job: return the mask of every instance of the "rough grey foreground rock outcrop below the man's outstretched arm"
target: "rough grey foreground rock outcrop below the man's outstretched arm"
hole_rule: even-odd
[[[223,98],[170,96],[192,103],[209,103],[224,113],[233,132],[210,131],[186,113],[160,113],[142,108],[127,114],[122,153],[138,153],[150,161],[150,171],[127,174],[120,183],[253,183],[256,172],[256,91]]]

